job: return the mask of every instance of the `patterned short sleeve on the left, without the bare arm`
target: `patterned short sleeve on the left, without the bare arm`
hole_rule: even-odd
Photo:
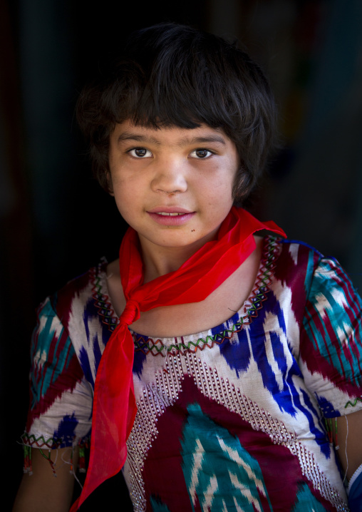
[[[51,299],[38,309],[31,342],[30,405],[24,444],[75,446],[90,434],[93,391]]]

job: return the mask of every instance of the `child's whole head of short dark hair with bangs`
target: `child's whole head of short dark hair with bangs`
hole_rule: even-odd
[[[177,24],[130,36],[122,56],[81,93],[77,118],[90,143],[93,172],[106,190],[116,123],[221,128],[239,153],[236,203],[262,173],[275,132],[274,99],[259,66],[236,43]]]

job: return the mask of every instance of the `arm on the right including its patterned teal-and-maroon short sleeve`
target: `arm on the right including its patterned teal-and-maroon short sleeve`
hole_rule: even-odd
[[[301,344],[304,380],[324,417],[336,416],[331,426],[342,479],[347,483],[353,477],[348,504],[351,511],[362,512],[361,479],[357,481],[355,473],[362,464],[362,300],[343,269],[329,258],[319,260],[307,288]],[[345,416],[349,406],[353,411]]]

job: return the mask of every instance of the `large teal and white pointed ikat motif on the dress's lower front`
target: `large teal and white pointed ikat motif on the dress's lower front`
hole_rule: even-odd
[[[260,496],[271,503],[262,470],[237,437],[206,416],[199,404],[187,407],[190,414],[182,432],[182,471],[195,511],[244,512],[263,510]]]

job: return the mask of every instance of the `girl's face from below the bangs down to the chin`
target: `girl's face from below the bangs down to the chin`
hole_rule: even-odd
[[[110,188],[143,250],[212,240],[232,208],[237,148],[222,130],[145,128],[130,121],[110,135]]]

